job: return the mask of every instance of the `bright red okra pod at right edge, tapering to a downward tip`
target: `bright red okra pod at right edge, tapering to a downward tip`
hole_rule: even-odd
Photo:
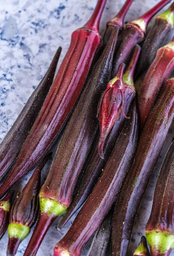
[[[174,68],[174,38],[161,47],[156,54],[143,82],[139,95],[141,130],[148,118],[162,86]]]

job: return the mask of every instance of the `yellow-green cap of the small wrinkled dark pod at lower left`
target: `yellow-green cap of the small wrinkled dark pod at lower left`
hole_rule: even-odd
[[[30,228],[18,223],[10,223],[8,225],[9,238],[18,238],[21,241],[24,240],[30,233]]]

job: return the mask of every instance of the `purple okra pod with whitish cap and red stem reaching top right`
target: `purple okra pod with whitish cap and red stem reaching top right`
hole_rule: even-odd
[[[123,32],[118,38],[111,78],[116,75],[120,63],[126,63],[134,46],[144,39],[150,19],[170,1],[171,0],[162,0],[148,12],[139,17],[139,19],[126,24]]]

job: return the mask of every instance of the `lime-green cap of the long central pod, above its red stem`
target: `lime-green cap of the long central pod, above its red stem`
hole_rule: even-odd
[[[48,216],[60,216],[67,210],[67,206],[57,202],[51,198],[40,197],[40,211],[41,213],[47,213]]]

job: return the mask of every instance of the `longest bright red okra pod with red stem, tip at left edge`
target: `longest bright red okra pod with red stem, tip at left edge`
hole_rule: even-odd
[[[71,44],[18,159],[0,187],[0,198],[35,168],[59,136],[102,46],[99,22],[106,0],[98,0],[89,21],[72,33]]]

